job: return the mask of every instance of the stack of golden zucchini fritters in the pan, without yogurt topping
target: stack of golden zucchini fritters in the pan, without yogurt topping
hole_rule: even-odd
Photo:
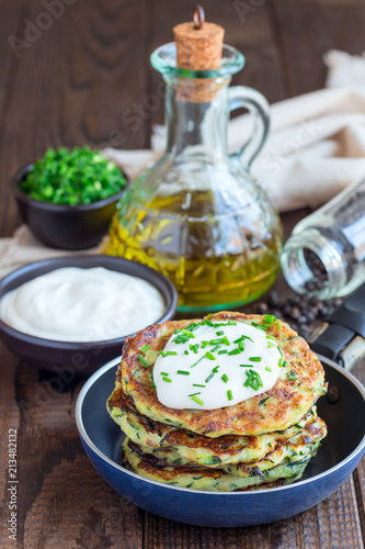
[[[264,324],[260,315],[217,313],[210,322]],[[174,410],[156,393],[152,365],[176,328],[198,321],[152,325],[127,339],[107,407],[126,434],[123,464],[181,488],[237,491],[273,488],[299,479],[327,434],[315,403],[324,373],[308,344],[287,324],[265,328],[285,357],[275,385],[232,406]],[[140,349],[148,350],[138,356]]]

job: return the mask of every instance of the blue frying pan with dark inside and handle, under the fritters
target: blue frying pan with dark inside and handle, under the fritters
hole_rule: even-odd
[[[350,368],[365,349],[365,285],[329,320],[312,348]],[[328,425],[317,456],[298,482],[254,492],[204,492],[153,482],[121,466],[123,434],[106,412],[118,359],[82,388],[76,408],[81,441],[96,470],[119,494],[157,515],[202,526],[251,526],[301,513],[334,492],[365,451],[365,389],[342,366],[319,355],[329,392],[318,401]]]

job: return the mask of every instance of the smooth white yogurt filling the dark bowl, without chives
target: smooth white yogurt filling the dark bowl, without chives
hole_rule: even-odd
[[[103,267],[56,269],[0,300],[0,318],[9,326],[57,341],[115,339],[163,312],[163,298],[152,284]]]

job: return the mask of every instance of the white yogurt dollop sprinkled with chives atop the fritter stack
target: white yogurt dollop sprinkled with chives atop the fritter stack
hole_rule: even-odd
[[[244,322],[210,324],[173,334],[157,358],[153,381],[164,406],[215,410],[274,386],[285,362],[272,336]]]

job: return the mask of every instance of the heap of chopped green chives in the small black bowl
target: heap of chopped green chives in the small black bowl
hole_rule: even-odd
[[[90,147],[60,147],[49,148],[20,187],[33,200],[76,205],[104,200],[125,184],[121,170],[99,152]]]

